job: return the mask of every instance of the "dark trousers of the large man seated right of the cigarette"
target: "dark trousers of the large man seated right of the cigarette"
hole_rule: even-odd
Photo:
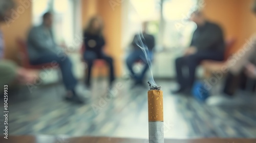
[[[202,60],[216,60],[216,61],[222,61],[223,58],[223,52],[217,52],[217,51],[199,51],[196,54],[188,55],[184,57],[177,58],[175,60],[176,64],[176,74],[177,74],[177,80],[180,84],[180,88],[190,88],[193,86],[195,81],[195,72],[197,66],[200,64]],[[182,73],[183,67],[188,68],[188,76],[185,76]]]

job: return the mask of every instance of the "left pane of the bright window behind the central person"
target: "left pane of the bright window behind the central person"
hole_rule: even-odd
[[[141,23],[143,21],[150,21],[148,25],[148,32],[156,38],[158,37],[161,14],[160,0],[124,1],[122,9],[123,47],[129,46],[133,36],[142,30]]]

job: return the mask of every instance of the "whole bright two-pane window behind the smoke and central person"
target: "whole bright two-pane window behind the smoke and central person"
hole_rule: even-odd
[[[123,45],[141,30],[142,21],[151,21],[148,30],[159,47],[173,49],[186,46],[196,28],[187,19],[199,0],[131,0],[123,5]]]

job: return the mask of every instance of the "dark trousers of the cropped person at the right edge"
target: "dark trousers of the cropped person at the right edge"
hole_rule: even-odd
[[[255,88],[255,80],[249,79],[244,72],[240,73],[237,76],[228,73],[224,85],[223,92],[232,96],[237,89],[253,91]]]

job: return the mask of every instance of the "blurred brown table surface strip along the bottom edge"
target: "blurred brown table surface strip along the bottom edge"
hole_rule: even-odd
[[[1,143],[147,143],[147,139],[111,138],[111,137],[59,137],[59,136],[10,136],[0,138]],[[165,139],[165,143],[256,143],[255,139],[242,138],[204,138],[204,139]]]

